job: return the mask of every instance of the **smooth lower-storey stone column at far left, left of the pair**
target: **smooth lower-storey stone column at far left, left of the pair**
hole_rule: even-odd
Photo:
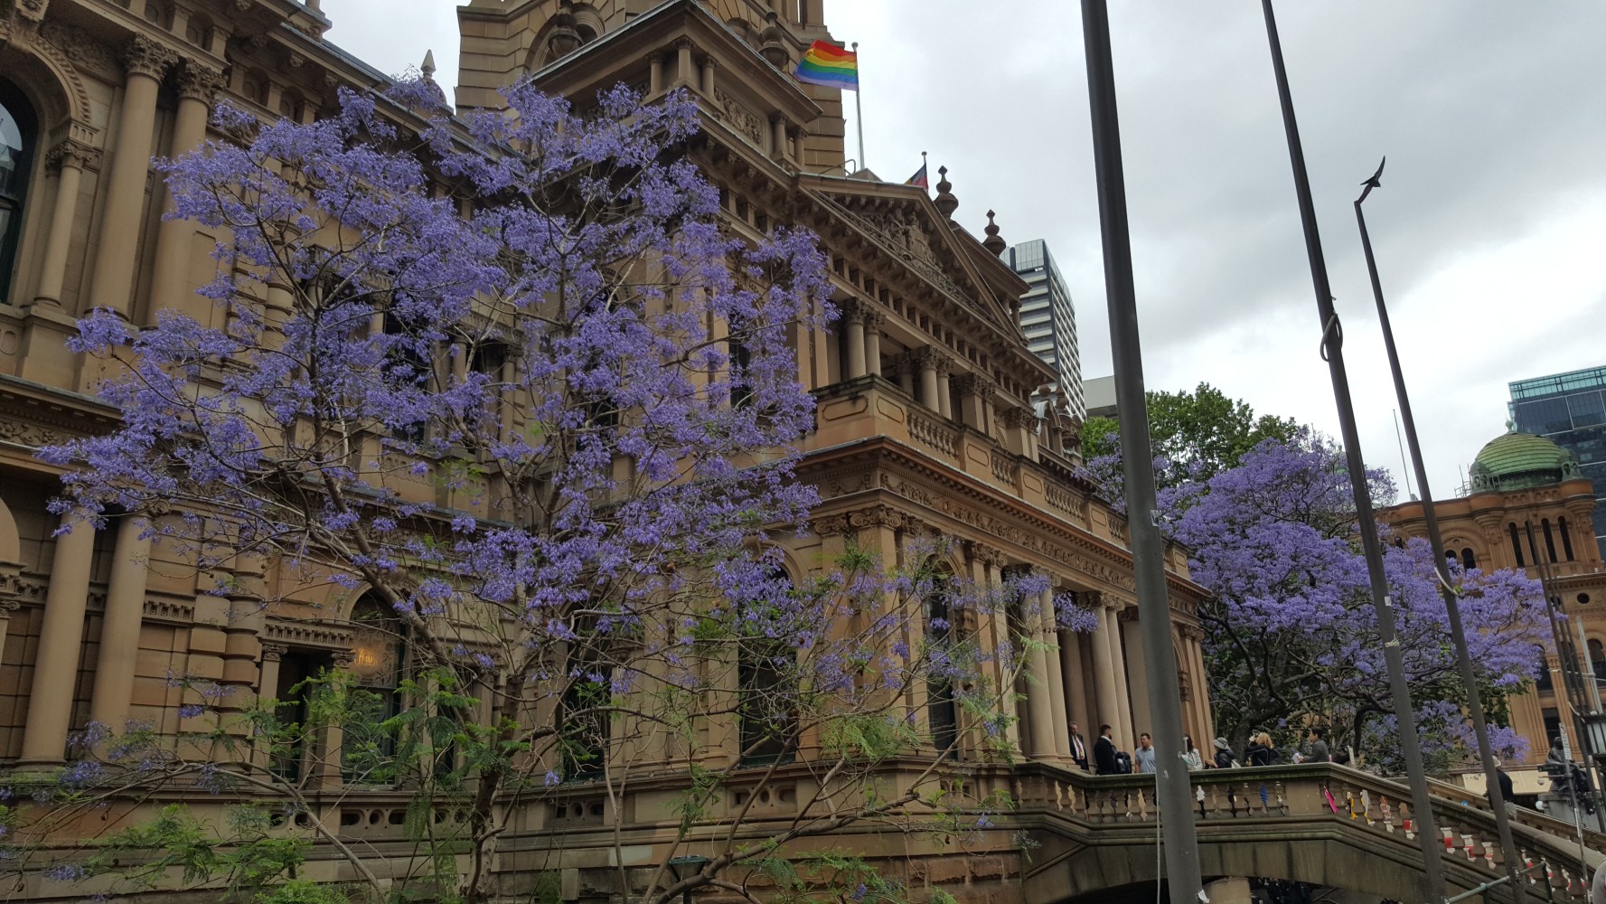
[[[71,523],[72,530],[56,538],[18,764],[61,763],[66,753],[95,552],[95,528],[88,522],[74,522],[80,514],[63,517],[63,523]]]

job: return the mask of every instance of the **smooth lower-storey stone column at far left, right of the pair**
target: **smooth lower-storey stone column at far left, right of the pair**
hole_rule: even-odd
[[[151,567],[149,527],[138,515],[117,519],[111,588],[106,591],[106,617],[101,620],[100,655],[90,690],[90,719],[112,731],[122,731],[128,723],[140,623],[145,621],[145,580]]]

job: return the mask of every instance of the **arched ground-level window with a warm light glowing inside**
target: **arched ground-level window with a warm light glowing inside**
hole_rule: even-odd
[[[406,676],[406,629],[377,596],[352,607],[353,690],[347,700],[340,739],[340,771],[360,785],[393,785],[398,776],[395,729]]]

